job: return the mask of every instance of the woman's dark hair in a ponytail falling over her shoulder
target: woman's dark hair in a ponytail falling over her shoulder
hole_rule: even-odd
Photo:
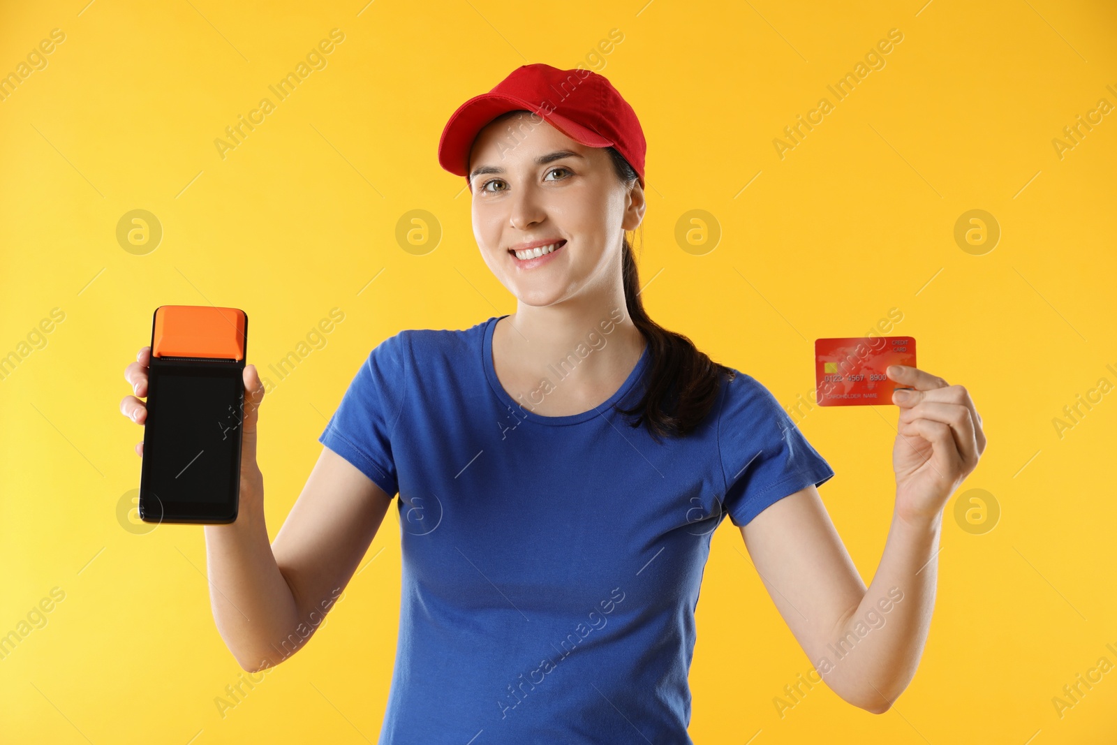
[[[605,147],[613,159],[617,176],[626,185],[637,180],[636,169],[614,147]],[[640,226],[641,245],[643,225]],[[618,411],[638,414],[632,427],[647,423],[652,436],[682,437],[698,427],[714,408],[723,378],[736,378],[732,367],[718,364],[698,350],[682,334],[663,328],[648,317],[640,299],[640,277],[636,256],[628,236],[622,238],[622,273],[624,304],[629,317],[648,342],[651,367],[640,401],[631,409]]]

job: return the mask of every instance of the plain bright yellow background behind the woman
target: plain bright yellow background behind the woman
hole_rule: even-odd
[[[244,308],[260,367],[344,312],[264,404],[274,536],[376,343],[515,308],[478,255],[465,181],[438,166],[449,114],[516,66],[584,63],[614,28],[623,41],[586,66],[631,102],[649,142],[638,249],[651,316],[791,407],[813,390],[814,338],[860,335],[899,308],[895,333],[918,340],[920,366],[964,384],[984,418],[989,449],[961,491],[986,489],[1001,508],[974,535],[954,518],[956,497],[947,505],[923,662],[882,716],[824,686],[776,713],[811,661],[726,520],[698,606],[693,737],[1117,742],[1117,672],[1061,718],[1051,701],[1099,658],[1117,663],[1106,648],[1117,647],[1117,394],[1062,438],[1052,424],[1100,378],[1117,383],[1106,367],[1117,367],[1117,114],[1061,159],[1052,145],[1099,98],[1117,104],[1111,6],[2,8],[2,74],[51,29],[66,35],[0,102],[0,354],[51,308],[65,313],[0,381],[0,633],[65,592],[0,660],[3,742],[376,741],[398,630],[394,503],[314,640],[222,718],[214,698],[241,670],[210,615],[202,529],[136,535],[117,520],[140,476],[122,373],[157,305]],[[222,160],[214,139],[334,28],[345,40],[327,66]],[[894,28],[904,39],[886,66],[836,102],[827,85]],[[834,111],[781,160],[773,140],[823,96]],[[134,209],[163,229],[143,256],[116,240]],[[413,209],[442,232],[424,255],[395,239]],[[722,231],[701,256],[675,239],[696,209]],[[1002,230],[982,256],[954,240],[971,209]],[[891,515],[895,421],[891,408],[815,408],[800,423],[838,474],[821,494],[866,582]]]

